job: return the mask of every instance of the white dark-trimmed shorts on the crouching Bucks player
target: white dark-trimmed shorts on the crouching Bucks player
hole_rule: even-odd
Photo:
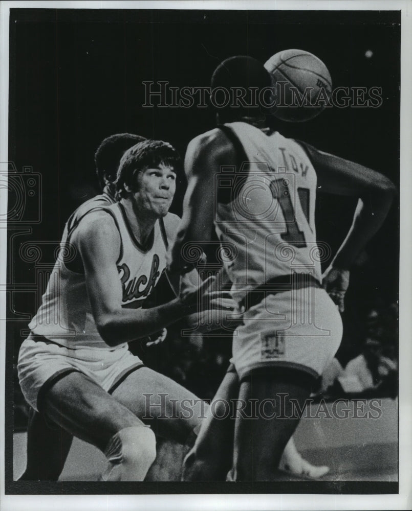
[[[110,392],[129,373],[143,365],[139,357],[127,350],[127,345],[107,350],[70,349],[30,334],[21,344],[17,371],[26,401],[39,411],[44,392],[68,373],[79,371]]]

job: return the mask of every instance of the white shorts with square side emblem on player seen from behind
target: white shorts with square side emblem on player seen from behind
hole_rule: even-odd
[[[243,316],[233,335],[239,378],[265,366],[298,369],[319,377],[342,338],[336,305],[321,288],[269,294]]]

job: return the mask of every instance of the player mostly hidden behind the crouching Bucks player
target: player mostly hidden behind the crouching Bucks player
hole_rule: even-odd
[[[94,160],[100,195],[83,202],[70,216],[67,228],[73,227],[80,219],[98,206],[115,203],[115,180],[119,162],[124,152],[146,140],[132,133],[117,133],[110,135],[100,143]],[[73,436],[57,425],[50,425],[44,417],[29,409],[27,430],[27,465],[19,478],[20,481],[57,481],[66,462],[72,445]]]

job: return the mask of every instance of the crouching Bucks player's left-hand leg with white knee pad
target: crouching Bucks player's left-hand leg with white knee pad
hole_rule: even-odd
[[[156,457],[153,431],[90,378],[78,371],[56,378],[38,406],[48,420],[105,453],[103,480],[144,479]]]

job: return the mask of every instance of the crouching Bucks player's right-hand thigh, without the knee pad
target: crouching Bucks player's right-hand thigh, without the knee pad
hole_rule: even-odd
[[[207,404],[195,394],[148,367],[141,367],[115,388],[122,403],[164,438],[185,443],[205,419]]]

